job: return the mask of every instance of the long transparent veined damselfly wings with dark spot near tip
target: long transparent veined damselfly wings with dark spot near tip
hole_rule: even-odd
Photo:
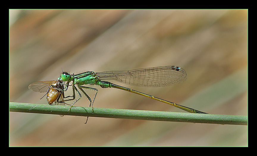
[[[177,66],[163,66],[135,69],[131,71],[104,71],[95,73],[101,80],[145,87],[175,85],[187,79],[187,73]]]

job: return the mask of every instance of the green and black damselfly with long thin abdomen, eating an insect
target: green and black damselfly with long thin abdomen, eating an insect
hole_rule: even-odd
[[[175,107],[178,107],[190,113],[204,113],[189,107],[181,106],[173,102],[156,98],[154,96],[151,96],[145,93],[141,93],[139,91],[132,90],[130,88],[122,87],[120,85],[115,85],[111,82],[103,81],[103,80],[115,80],[117,82],[127,84],[127,85],[145,86],[145,87],[161,87],[161,86],[175,85],[187,79],[186,71],[177,66],[142,68],[142,69],[135,69],[131,71],[104,71],[104,72],[96,72],[96,73],[93,71],[87,71],[80,74],[69,74],[68,72],[62,72],[61,76],[58,79],[63,80],[64,82],[67,81],[67,85],[69,85],[69,83],[72,81],[73,96],[70,96],[70,97],[73,97],[73,99],[68,99],[68,100],[75,99],[74,90],[76,90],[76,92],[79,94],[79,98],[76,99],[74,103],[76,103],[82,97],[81,93],[78,91],[78,89],[75,86],[77,85],[77,87],[82,91],[82,93],[84,93],[84,95],[87,96],[87,98],[89,99],[90,107],[93,107],[93,102],[95,100],[98,89],[84,86],[88,84],[99,85],[102,88],[118,88],[124,91],[129,91],[131,93],[136,93],[160,102],[164,102],[166,104],[173,105]],[[96,91],[93,101],[90,99],[90,97],[82,88],[93,89]],[[64,100],[64,101],[68,101],[68,100]],[[70,108],[73,106],[73,104],[71,104]]]

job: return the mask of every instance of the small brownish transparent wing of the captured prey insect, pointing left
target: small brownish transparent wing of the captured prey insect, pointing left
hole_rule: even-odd
[[[29,85],[29,89],[35,92],[44,93],[47,92],[48,87],[55,84],[56,81],[42,81],[42,82],[33,82]]]

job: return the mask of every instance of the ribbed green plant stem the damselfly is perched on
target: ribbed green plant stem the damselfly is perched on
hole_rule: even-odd
[[[248,116],[162,112],[149,110],[126,110],[113,108],[72,107],[47,104],[9,102],[10,112],[42,113],[69,116],[91,116],[102,118],[123,118],[153,121],[175,121],[208,124],[247,125]]]

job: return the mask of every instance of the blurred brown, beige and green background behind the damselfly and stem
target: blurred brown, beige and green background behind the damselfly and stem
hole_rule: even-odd
[[[248,115],[248,10],[9,10],[9,101],[64,71],[175,65],[183,83],[129,87],[211,114]],[[185,112],[99,86],[94,107]],[[72,94],[69,88],[67,94]],[[89,96],[94,91],[86,90]],[[65,94],[65,95],[67,95]],[[89,106],[85,96],[76,106]],[[9,146],[248,146],[248,126],[9,112]]]

